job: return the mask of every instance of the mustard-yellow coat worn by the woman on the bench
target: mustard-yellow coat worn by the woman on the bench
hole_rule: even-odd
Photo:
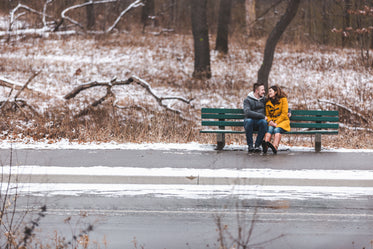
[[[266,103],[266,116],[267,122],[273,121],[277,124],[277,127],[290,131],[290,119],[288,117],[288,100],[287,98],[281,98],[279,103],[273,105],[271,101]]]

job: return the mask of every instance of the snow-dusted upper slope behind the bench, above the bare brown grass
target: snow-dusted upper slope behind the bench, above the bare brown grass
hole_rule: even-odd
[[[0,53],[0,59],[8,62],[4,67],[3,77],[20,83],[26,82],[30,73],[20,73],[16,64],[33,65],[35,71],[43,70],[29,87],[61,100],[62,96],[82,83],[93,80],[109,81],[114,76],[122,80],[137,75],[151,85],[157,85],[155,91],[160,94],[172,90],[172,94],[177,96],[194,97],[193,104],[196,109],[204,105],[240,107],[242,99],[256,81],[263,56],[259,47],[249,53],[246,49],[232,47],[230,55],[225,58],[211,51],[213,77],[206,84],[228,84],[232,89],[242,89],[242,84],[245,84],[244,89],[227,92],[224,87],[218,87],[211,92],[192,89],[190,93],[185,93],[185,88],[173,88],[167,83],[183,85],[190,81],[193,70],[191,37],[175,35],[172,37],[175,45],[172,46],[167,39],[140,39],[141,46],[131,43],[107,46],[103,42],[90,39],[42,40],[40,44],[37,41],[36,44],[26,42],[17,49]],[[314,49],[312,54],[285,48],[276,51],[270,84],[285,87],[289,93],[290,105],[303,104],[309,108],[319,108],[317,98],[323,98],[336,103],[353,103],[351,107],[359,107],[362,111],[370,110],[368,103],[372,99],[368,94],[372,89],[373,77],[369,69],[364,71],[361,66],[357,66],[359,53],[353,49]],[[76,70],[80,70],[81,74],[76,75]],[[164,85],[167,85],[166,89]],[[117,87],[115,91],[118,100],[141,103],[146,99],[154,102],[151,97],[144,96],[143,89],[136,87]],[[6,93],[3,95],[6,96]],[[92,91],[88,95],[94,98],[97,92]],[[238,100],[235,99],[237,97]],[[35,106],[38,104],[35,102]],[[50,104],[61,103],[56,100]],[[179,105],[177,101],[173,104]]]

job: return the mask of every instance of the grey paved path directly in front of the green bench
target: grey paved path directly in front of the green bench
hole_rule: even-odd
[[[0,150],[2,165],[9,164],[10,150]],[[280,152],[277,155],[245,151],[156,150],[14,150],[14,165],[126,166],[172,168],[272,168],[272,169],[373,169],[373,153]]]

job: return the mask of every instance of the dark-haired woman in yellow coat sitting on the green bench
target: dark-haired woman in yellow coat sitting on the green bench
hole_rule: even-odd
[[[268,89],[268,97],[266,98],[268,130],[262,144],[264,153],[270,147],[273,153],[276,154],[280,145],[281,134],[290,131],[288,109],[286,93],[278,86],[271,86]],[[273,144],[270,143],[272,135],[274,135]]]

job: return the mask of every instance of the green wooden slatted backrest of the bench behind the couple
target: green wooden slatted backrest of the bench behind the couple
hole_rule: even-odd
[[[321,110],[292,110],[290,126],[292,128],[306,128],[316,130],[336,130],[339,128],[338,111]],[[217,126],[224,129],[226,126],[243,127],[243,109],[202,108],[202,126]]]

